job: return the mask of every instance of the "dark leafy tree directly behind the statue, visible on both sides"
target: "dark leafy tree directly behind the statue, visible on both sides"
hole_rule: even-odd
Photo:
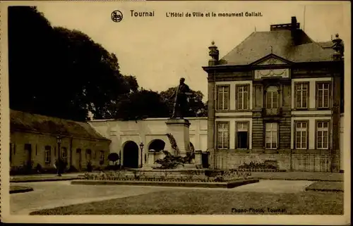
[[[175,92],[176,87],[171,87],[166,91],[160,92],[162,101],[167,103],[169,108],[169,115],[172,115],[174,108],[174,99],[170,96]],[[189,112],[186,113],[186,117],[203,117],[207,115],[207,107],[203,103],[203,93],[201,91],[194,91],[191,89],[192,95],[189,97]]]

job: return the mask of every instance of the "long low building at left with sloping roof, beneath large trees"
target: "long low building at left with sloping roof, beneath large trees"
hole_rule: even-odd
[[[88,123],[11,110],[10,165],[15,171],[29,163],[32,168],[53,169],[61,158],[77,170],[107,165],[109,139]]]

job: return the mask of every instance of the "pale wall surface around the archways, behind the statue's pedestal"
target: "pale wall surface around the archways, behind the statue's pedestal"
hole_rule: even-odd
[[[155,139],[161,139],[165,143],[164,150],[172,151],[167,137],[167,118],[148,118],[138,121],[121,120],[92,120],[90,125],[103,137],[110,139],[110,152],[121,153],[124,164],[124,146],[127,142],[135,142],[137,146],[144,144],[143,154],[138,154],[138,163],[141,156],[148,155],[150,144]],[[195,150],[206,151],[208,142],[208,120],[207,118],[189,118],[190,142]],[[129,151],[129,150],[128,150]],[[140,153],[140,150],[139,150]]]

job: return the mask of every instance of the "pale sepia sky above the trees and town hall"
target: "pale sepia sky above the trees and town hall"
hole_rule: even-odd
[[[329,41],[336,33],[350,42],[349,2],[310,1],[85,1],[39,2],[37,8],[54,26],[88,34],[116,54],[121,73],[134,75],[140,87],[162,91],[180,77],[207,96],[208,46],[212,41],[220,58],[252,32],[290,23],[296,16],[301,29],[314,41]],[[32,4],[33,5],[33,4]],[[305,6],[305,7],[304,7]],[[305,23],[304,23],[305,8]],[[111,19],[112,11],[124,17]],[[131,17],[133,11],[154,11],[154,17]],[[262,17],[167,17],[171,12],[261,12]],[[185,14],[184,14],[185,15]]]

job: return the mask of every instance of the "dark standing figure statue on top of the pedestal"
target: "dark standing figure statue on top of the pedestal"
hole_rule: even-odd
[[[174,98],[174,108],[171,118],[184,118],[188,111],[188,96],[191,96],[191,90],[187,84],[184,83],[184,77],[181,77],[179,86],[175,89],[171,98]]]

